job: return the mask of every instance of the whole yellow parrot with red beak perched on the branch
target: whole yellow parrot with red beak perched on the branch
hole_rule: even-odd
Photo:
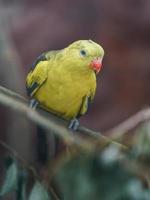
[[[78,118],[94,98],[103,56],[103,48],[92,40],[79,40],[40,55],[26,79],[30,106],[39,105],[68,119],[69,128],[77,129]]]

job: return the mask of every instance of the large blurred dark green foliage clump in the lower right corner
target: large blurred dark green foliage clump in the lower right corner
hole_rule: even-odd
[[[65,200],[148,200],[150,192],[124,167],[118,149],[97,155],[80,154],[58,171],[56,179]]]

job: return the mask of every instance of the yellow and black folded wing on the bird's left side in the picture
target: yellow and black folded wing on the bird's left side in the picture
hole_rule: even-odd
[[[28,73],[26,79],[26,88],[28,96],[33,96],[35,92],[42,86],[42,84],[47,80],[49,62],[53,59],[57,51],[49,51],[41,54],[31,66],[31,70]]]

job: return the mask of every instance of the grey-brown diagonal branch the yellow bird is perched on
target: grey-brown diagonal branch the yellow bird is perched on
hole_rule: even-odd
[[[93,150],[96,146],[101,147],[109,143],[118,145],[120,148],[126,148],[124,145],[112,141],[108,137],[103,136],[99,132],[95,132],[86,127],[80,126],[78,133],[89,136],[89,138],[80,137],[78,134],[74,134],[67,128],[68,121],[58,118],[57,116],[50,114],[43,110],[33,110],[29,108],[28,101],[21,95],[10,91],[0,86],[0,104],[9,107],[15,112],[21,113],[36,124],[41,125],[45,129],[59,135],[64,139],[66,143],[78,145],[80,148],[86,150]]]

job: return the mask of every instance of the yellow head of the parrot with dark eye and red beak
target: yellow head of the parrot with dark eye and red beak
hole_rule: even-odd
[[[67,48],[72,66],[98,74],[102,68],[104,49],[92,40],[79,40]]]

